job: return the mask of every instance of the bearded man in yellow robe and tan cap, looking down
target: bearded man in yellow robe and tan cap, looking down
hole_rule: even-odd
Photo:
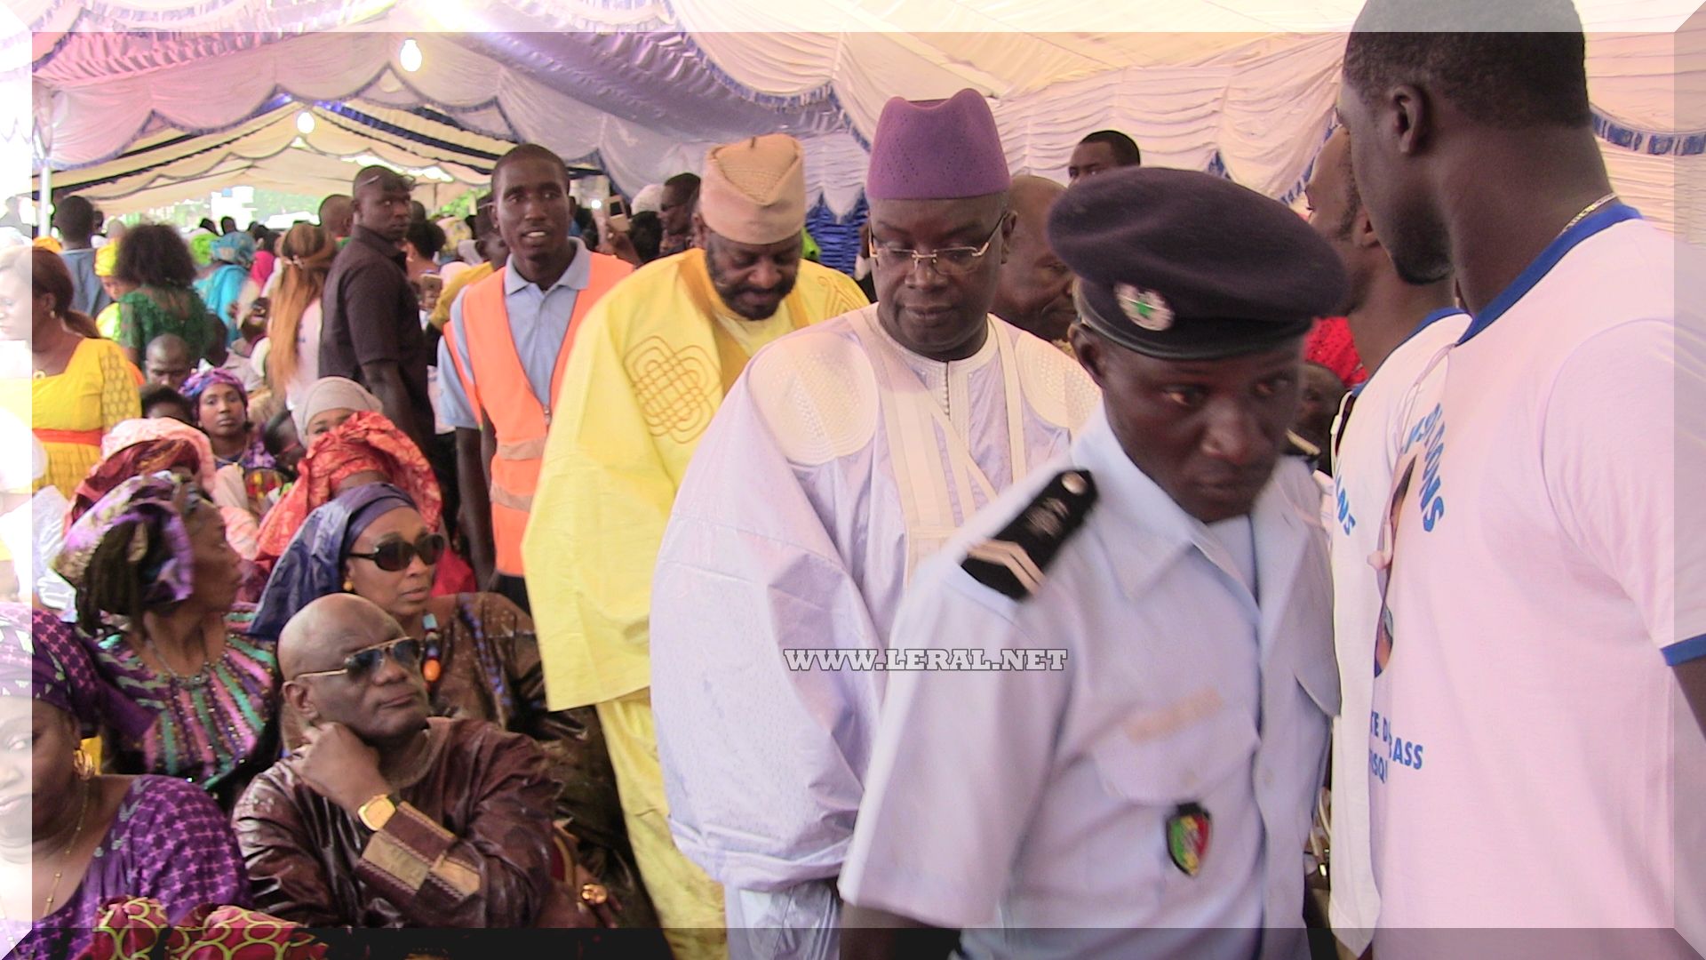
[[[522,540],[551,709],[595,704],[628,837],[677,958],[722,957],[722,890],[676,851],[652,729],[652,565],[688,460],[759,347],[865,304],[800,256],[800,143],[705,157],[699,246],[655,260],[583,318]]]

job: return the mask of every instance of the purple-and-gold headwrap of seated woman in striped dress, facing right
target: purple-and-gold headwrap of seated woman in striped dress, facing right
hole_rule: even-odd
[[[213,509],[200,487],[174,473],[131,477],[113,487],[65,531],[65,548],[53,559],[53,572],[84,593],[96,550],[119,524],[135,523],[126,557],[131,564],[150,562],[142,571],[147,584],[143,605],[177,603],[194,589],[196,562],[184,518],[198,504]],[[85,627],[94,629],[94,623]]]

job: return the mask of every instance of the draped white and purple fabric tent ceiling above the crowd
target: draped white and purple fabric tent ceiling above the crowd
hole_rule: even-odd
[[[46,159],[55,184],[73,183],[155,138],[194,135],[223,143],[223,155],[184,157],[179,173],[206,164],[215,179],[302,183],[329,176],[321,161],[368,137],[365,150],[478,179],[490,162],[444,142],[502,152],[534,140],[633,193],[698,169],[713,143],[785,130],[807,147],[814,198],[844,214],[884,101],[969,85],[991,97],[1015,173],[1065,179],[1073,143],[1111,126],[1140,142],[1146,164],[1225,169],[1291,200],[1327,133],[1343,31],[1361,0],[184,3],[14,0],[36,31],[34,169]],[[1576,3],[1614,179],[1660,222],[1699,220],[1706,116],[1679,111],[1677,91],[1706,99],[1706,43],[1675,32],[1696,2]],[[423,55],[416,72],[399,63],[406,36]],[[316,135],[290,147],[302,108],[280,106],[288,101],[401,118],[404,133],[321,116]],[[428,130],[404,113],[418,106],[450,125]],[[101,190],[136,183],[147,181]]]

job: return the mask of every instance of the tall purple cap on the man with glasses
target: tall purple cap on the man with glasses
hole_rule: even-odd
[[[1012,186],[1001,133],[978,91],[945,101],[894,97],[882,106],[870,138],[872,200],[957,200]]]

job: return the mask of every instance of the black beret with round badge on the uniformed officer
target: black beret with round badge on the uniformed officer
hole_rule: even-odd
[[[1290,208],[1206,173],[1121,167],[1049,210],[1080,319],[1169,360],[1271,350],[1338,309],[1344,266]]]

